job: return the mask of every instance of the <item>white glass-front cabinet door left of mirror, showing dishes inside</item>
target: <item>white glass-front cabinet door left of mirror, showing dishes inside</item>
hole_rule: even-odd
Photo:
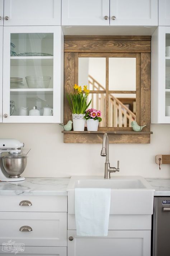
[[[62,122],[62,37],[57,26],[4,28],[3,122]]]

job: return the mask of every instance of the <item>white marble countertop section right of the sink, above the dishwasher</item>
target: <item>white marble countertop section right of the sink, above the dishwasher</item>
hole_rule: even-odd
[[[155,189],[155,196],[170,196],[169,178],[146,178],[146,180]]]

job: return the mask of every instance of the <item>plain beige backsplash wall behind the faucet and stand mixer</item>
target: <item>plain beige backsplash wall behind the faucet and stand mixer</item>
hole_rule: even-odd
[[[152,124],[151,144],[110,144],[114,175],[170,178],[170,165],[155,163],[156,154],[170,154],[170,124]],[[31,148],[25,177],[70,177],[103,175],[105,158],[100,144],[64,144],[58,124],[0,124],[0,138],[16,138]]]

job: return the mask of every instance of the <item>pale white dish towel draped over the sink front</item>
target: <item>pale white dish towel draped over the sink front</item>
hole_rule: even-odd
[[[110,191],[103,188],[75,188],[77,235],[108,235]]]

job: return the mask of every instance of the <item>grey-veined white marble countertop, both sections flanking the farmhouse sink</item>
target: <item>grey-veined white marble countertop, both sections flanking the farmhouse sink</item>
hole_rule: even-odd
[[[146,178],[155,196],[170,196],[169,178]],[[19,182],[0,182],[0,195],[67,195],[70,178],[26,178]]]

